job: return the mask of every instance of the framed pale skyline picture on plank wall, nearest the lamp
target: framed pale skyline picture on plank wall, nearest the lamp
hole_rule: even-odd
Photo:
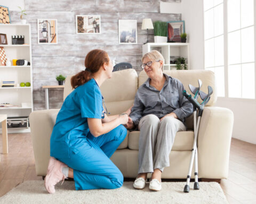
[[[137,44],[137,20],[118,20],[119,44]]]

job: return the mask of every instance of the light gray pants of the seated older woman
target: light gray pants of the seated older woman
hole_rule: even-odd
[[[170,166],[169,154],[175,134],[186,131],[186,126],[174,117],[165,117],[162,122],[156,115],[150,114],[141,118],[138,126],[139,139],[139,170],[140,173],[152,173],[158,168]]]

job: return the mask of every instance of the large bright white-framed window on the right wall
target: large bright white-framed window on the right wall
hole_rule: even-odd
[[[218,96],[255,99],[253,0],[204,0],[204,38],[205,69],[215,73]]]

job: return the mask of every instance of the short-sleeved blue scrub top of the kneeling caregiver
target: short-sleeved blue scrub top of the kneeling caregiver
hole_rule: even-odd
[[[63,102],[51,135],[51,156],[68,154],[89,133],[87,118],[102,116],[102,95],[94,79],[73,90]],[[67,155],[66,155],[67,156]]]

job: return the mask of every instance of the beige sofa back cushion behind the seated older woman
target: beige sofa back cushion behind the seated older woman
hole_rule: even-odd
[[[211,86],[213,89],[213,94],[206,106],[213,106],[217,101],[217,90],[215,87],[214,73],[209,70],[165,70],[164,73],[170,77],[180,80],[184,88],[191,94],[188,84],[192,84],[195,87],[198,87],[198,79],[201,79],[203,84],[201,90],[208,93],[208,86]],[[139,74],[139,87],[148,79],[148,75],[145,71],[141,71]],[[194,96],[194,95],[192,95]],[[200,97],[198,101],[202,103]]]

